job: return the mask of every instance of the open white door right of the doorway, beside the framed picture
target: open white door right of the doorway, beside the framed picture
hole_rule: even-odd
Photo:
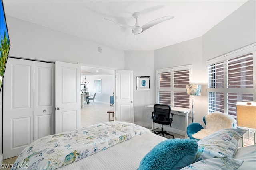
[[[116,70],[116,121],[134,123],[133,71]]]

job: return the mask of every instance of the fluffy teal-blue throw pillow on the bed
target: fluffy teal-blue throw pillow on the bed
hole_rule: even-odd
[[[179,170],[194,162],[197,148],[196,140],[167,139],[144,156],[138,170]]]

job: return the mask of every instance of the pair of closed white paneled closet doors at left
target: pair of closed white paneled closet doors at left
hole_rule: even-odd
[[[3,156],[53,133],[54,64],[8,58],[3,86]]]

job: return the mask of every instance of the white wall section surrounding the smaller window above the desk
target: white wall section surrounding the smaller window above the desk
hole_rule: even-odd
[[[192,64],[192,79],[190,83],[192,84],[204,84],[205,77],[204,72],[202,72],[202,38],[198,37],[182,43],[164,47],[154,51],[154,72],[161,68],[170,68],[175,66],[184,66]],[[156,84],[156,82],[154,82]],[[156,87],[156,85],[155,85]],[[203,88],[205,89],[205,88]],[[204,90],[202,90],[202,96],[206,95]],[[194,103],[194,121],[199,122],[201,120],[200,115],[205,115],[205,106],[202,103],[202,96],[195,96]],[[156,93],[154,93],[154,99],[156,99]],[[200,101],[200,102],[199,102]],[[156,102],[156,100],[154,100]],[[184,117],[174,115],[174,121],[172,122],[172,127],[175,129],[184,129]],[[190,119],[191,121],[191,119]]]

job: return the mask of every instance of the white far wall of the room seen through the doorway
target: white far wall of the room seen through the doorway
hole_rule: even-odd
[[[81,79],[84,80],[84,76],[81,76]],[[102,93],[96,93],[95,101],[105,102],[110,104],[110,96],[113,96],[112,89],[114,88],[114,74],[113,75],[86,75],[86,80],[88,84],[89,94],[94,94],[94,80],[102,79]],[[92,101],[90,101],[92,103]]]

